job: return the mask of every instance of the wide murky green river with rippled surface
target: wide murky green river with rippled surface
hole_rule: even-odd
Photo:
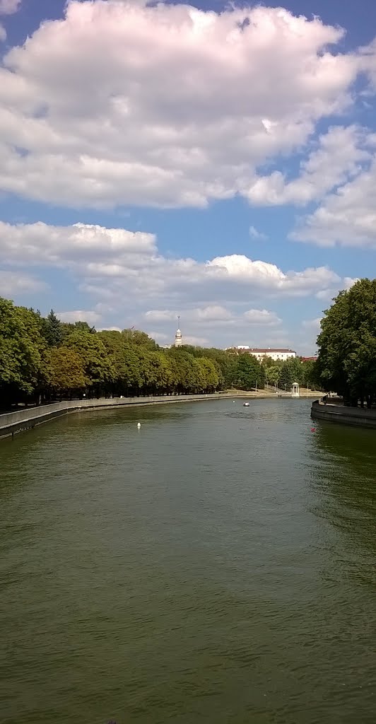
[[[310,404],[0,443],[2,724],[375,721],[375,432]]]

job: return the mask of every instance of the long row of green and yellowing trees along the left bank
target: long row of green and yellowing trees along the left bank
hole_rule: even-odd
[[[83,395],[181,395],[263,389],[265,383],[289,390],[304,376],[308,384],[304,365],[298,359],[260,363],[216,348],[160,348],[138,329],[97,332],[85,321],[61,321],[53,310],[43,317],[0,298],[2,409]]]

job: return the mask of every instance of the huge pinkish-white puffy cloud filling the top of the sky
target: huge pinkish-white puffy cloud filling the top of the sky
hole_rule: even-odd
[[[247,195],[351,105],[365,61],[331,53],[342,38],[282,8],[71,0],[4,58],[0,188],[72,207]]]

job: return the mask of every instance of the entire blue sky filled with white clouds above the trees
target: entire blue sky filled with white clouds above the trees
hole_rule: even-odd
[[[375,276],[375,0],[0,0],[0,295],[312,355]]]

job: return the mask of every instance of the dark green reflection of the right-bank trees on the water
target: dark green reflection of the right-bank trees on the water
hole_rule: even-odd
[[[326,575],[375,586],[375,433],[322,424],[312,437],[313,510],[329,526]]]

